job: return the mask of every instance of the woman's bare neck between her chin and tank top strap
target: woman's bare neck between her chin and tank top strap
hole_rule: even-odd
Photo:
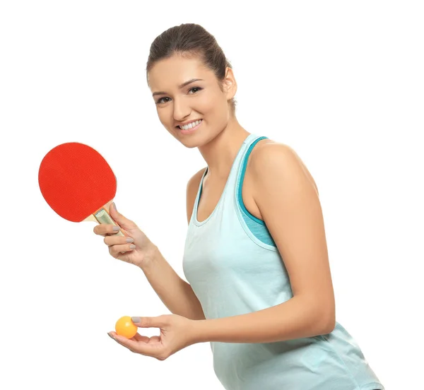
[[[216,179],[227,179],[232,162],[240,150],[242,143],[249,136],[235,117],[212,141],[199,147],[199,152],[208,165],[208,176]]]

